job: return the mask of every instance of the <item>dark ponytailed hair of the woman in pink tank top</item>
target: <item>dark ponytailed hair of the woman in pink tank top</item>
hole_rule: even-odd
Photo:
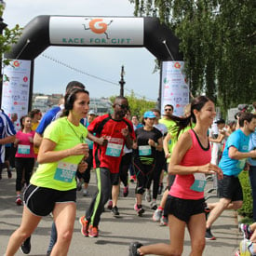
[[[194,98],[193,101],[191,102],[190,115],[188,115],[187,117],[179,117],[177,115],[167,115],[169,119],[176,122],[177,127],[179,128],[177,133],[177,138],[179,137],[179,134],[183,128],[186,128],[187,126],[191,126],[192,123],[196,123],[196,119],[193,111],[194,110],[200,111],[208,101],[211,101],[211,100],[206,96],[198,96]]]

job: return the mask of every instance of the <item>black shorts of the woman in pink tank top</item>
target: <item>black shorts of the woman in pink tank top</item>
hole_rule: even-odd
[[[168,195],[166,202],[164,215],[168,214],[174,215],[177,219],[182,222],[189,222],[190,217],[195,214],[200,214],[205,212],[205,198],[192,200],[192,199],[182,199]]]

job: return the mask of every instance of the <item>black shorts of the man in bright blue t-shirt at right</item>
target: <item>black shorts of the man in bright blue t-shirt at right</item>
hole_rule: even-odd
[[[238,177],[223,175],[223,179],[218,180],[218,195],[231,201],[243,201],[243,190]]]

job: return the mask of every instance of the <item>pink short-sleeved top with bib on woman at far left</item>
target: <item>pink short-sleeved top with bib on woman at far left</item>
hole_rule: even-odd
[[[17,145],[15,157],[19,158],[34,158],[34,143],[29,139],[34,138],[34,130],[29,133],[24,133],[19,130],[16,134],[16,139],[20,140]]]

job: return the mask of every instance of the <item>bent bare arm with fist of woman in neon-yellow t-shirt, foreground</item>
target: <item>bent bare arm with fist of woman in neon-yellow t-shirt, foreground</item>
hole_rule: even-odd
[[[86,155],[88,154],[88,144],[79,143],[70,149],[54,151],[56,143],[49,139],[43,139],[37,156],[39,164],[58,162],[61,159],[71,155]]]

